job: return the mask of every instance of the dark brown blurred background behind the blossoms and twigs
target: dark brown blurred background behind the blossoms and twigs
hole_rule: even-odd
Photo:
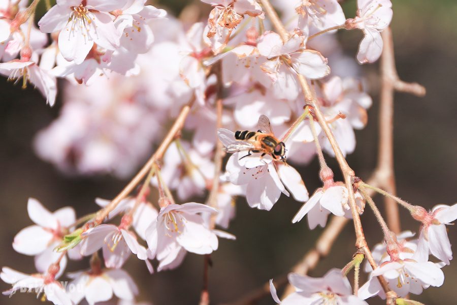
[[[164,0],[158,7],[179,15],[188,4],[190,13],[207,15],[209,7],[199,1]],[[457,186],[457,2],[454,0],[393,1],[392,22],[397,69],[405,81],[416,81],[427,88],[425,98],[407,94],[395,96],[395,167],[398,195],[413,203],[432,208],[456,202]],[[346,17],[355,12],[355,0],[345,1]],[[187,9],[186,9],[187,10]],[[189,14],[189,10],[186,11]],[[360,33],[342,32],[339,39],[345,51],[355,56]],[[371,81],[374,105],[369,110],[368,126],[356,132],[357,147],[348,162],[357,175],[370,176],[377,154],[378,64],[362,67]],[[17,254],[11,247],[14,235],[31,224],[26,212],[28,197],[39,199],[51,211],[73,206],[78,216],[96,210],[95,197],[113,198],[128,180],[112,176],[68,177],[40,160],[32,149],[34,135],[57,117],[61,103],[47,106],[40,93],[31,87],[0,78],[0,264],[23,272],[34,272],[31,257]],[[152,147],[151,147],[152,151]],[[336,163],[329,158],[336,169]],[[319,187],[318,164],[300,169],[310,192]],[[341,179],[338,171],[336,178]],[[376,197],[382,210],[382,198]],[[310,250],[321,229],[310,231],[306,221],[292,225],[290,220],[301,204],[282,196],[270,212],[251,209],[245,200],[237,202],[237,216],[228,231],[236,241],[220,240],[212,254],[210,270],[211,303],[239,299],[269,279],[279,279]],[[401,209],[402,228],[418,230],[408,213]],[[369,209],[362,222],[369,246],[380,242],[381,231]],[[457,232],[450,227],[449,239],[457,244]],[[319,262],[311,276],[320,277],[331,267],[343,267],[351,258],[353,228],[348,225],[337,239],[331,254]],[[456,245],[453,247],[457,251]],[[86,268],[87,262],[70,264],[67,271]],[[203,256],[188,254],[175,270],[150,276],[144,263],[130,259],[125,268],[140,287],[139,300],[154,304],[198,303],[203,284]],[[414,300],[426,304],[455,304],[457,263],[443,268],[446,279],[440,288],[429,288]],[[352,273],[351,273],[352,274]],[[365,275],[363,275],[365,277]],[[9,286],[0,283],[0,289]],[[280,290],[282,292],[282,290]],[[11,299],[0,297],[1,304],[38,302],[32,294],[18,293]],[[260,303],[272,304],[268,295]],[[370,303],[383,303],[371,299]]]

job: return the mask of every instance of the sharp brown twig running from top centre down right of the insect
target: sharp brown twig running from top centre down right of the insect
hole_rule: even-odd
[[[272,22],[273,26],[276,28],[278,31],[278,34],[281,36],[281,39],[285,43],[289,35],[282,24],[281,20],[279,19],[278,15],[276,14],[276,11],[274,10],[273,6],[271,5],[269,0],[260,0],[260,3],[264,6],[265,11],[267,12],[267,15],[270,18],[270,21]],[[330,129],[329,125],[327,124],[327,121],[325,120],[325,117],[323,116],[322,112],[320,111],[319,108],[319,103],[317,102],[312,89],[308,85],[308,81],[303,75],[298,74],[297,78],[299,80],[299,83],[302,87],[303,94],[305,96],[305,102],[311,103],[311,105],[314,107],[314,111],[317,117],[317,120],[319,121],[319,124],[322,128],[322,131],[324,132],[325,136],[329,140],[330,145],[332,146],[332,149],[335,153],[335,158],[340,166],[341,172],[344,177],[344,181],[346,184],[346,188],[348,191],[348,197],[349,197],[349,206],[351,209],[351,214],[353,217],[353,223],[354,223],[354,230],[355,230],[355,236],[356,236],[356,241],[355,241],[355,247],[358,250],[363,251],[365,254],[367,260],[369,261],[370,265],[375,269],[377,267],[377,264],[371,254],[370,248],[367,245],[367,241],[365,239],[364,231],[362,228],[362,222],[360,220],[360,215],[358,215],[358,210],[357,206],[355,203],[355,195],[354,195],[354,190],[352,188],[352,179],[355,176],[354,171],[349,167],[349,165],[346,162],[346,159],[344,158],[344,155],[332,133],[332,130]],[[378,277],[379,282],[381,284],[381,287],[383,290],[387,293],[390,291],[390,288],[388,286],[387,281],[382,277]],[[389,293],[389,295],[393,295],[393,293]],[[390,300],[389,302],[394,302],[394,300]]]

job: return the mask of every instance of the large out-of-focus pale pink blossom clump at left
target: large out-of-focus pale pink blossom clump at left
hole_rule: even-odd
[[[61,171],[126,177],[160,137],[162,112],[148,105],[138,79],[98,78],[97,90],[67,85],[59,117],[35,138],[35,151]]]

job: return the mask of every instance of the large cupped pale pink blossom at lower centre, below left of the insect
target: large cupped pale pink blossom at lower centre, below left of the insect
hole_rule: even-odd
[[[149,250],[159,261],[157,270],[176,268],[186,251],[209,254],[217,250],[218,240],[198,213],[217,210],[200,203],[170,204],[160,209],[157,221],[146,230]]]

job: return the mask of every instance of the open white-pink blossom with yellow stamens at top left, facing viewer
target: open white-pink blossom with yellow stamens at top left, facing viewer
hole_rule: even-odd
[[[94,43],[115,50],[120,44],[110,11],[124,7],[126,0],[57,1],[38,22],[42,32],[60,31],[58,44],[63,57],[81,64]]]

